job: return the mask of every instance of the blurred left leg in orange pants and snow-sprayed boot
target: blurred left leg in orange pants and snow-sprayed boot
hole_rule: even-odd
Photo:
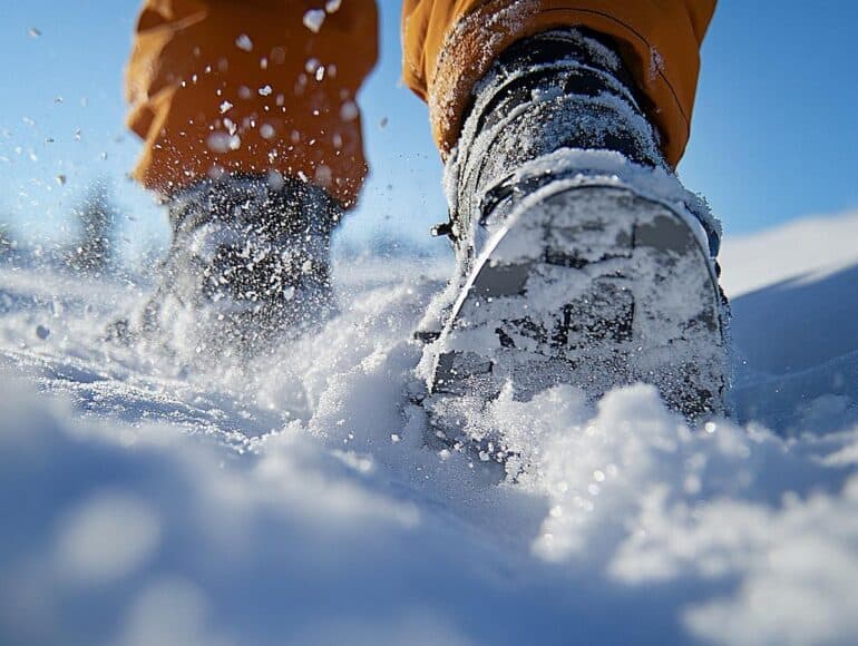
[[[330,235],[367,175],[355,95],[377,55],[373,0],[145,1],[134,176],[174,235],[131,336],[256,350],[323,317]]]

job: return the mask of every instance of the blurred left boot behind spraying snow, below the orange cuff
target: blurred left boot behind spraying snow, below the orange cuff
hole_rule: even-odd
[[[109,336],[191,355],[253,354],[330,316],[341,207],[277,175],[205,180],[169,202],[173,241],[153,296]]]

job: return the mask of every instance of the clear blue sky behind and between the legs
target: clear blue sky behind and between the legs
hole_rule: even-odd
[[[400,2],[379,4],[382,59],[361,96],[373,173],[342,233],[442,245],[426,238],[446,205],[426,108],[399,81]],[[121,95],[137,2],[0,6],[0,218],[31,238],[59,238],[87,185],[107,176],[129,244],[164,241],[163,214],[124,179],[139,149]],[[722,0],[680,173],[728,234],[858,208],[856,23],[858,4],[842,0]]]

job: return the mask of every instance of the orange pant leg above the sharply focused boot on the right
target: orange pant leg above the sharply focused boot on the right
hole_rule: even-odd
[[[432,134],[449,154],[470,91],[509,45],[558,27],[613,38],[676,165],[691,128],[700,45],[716,0],[404,0],[403,76],[429,104]]]

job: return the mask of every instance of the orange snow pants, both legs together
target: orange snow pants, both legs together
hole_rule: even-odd
[[[403,77],[442,156],[514,41],[579,26],[614,39],[679,163],[716,0],[403,0]],[[353,206],[368,166],[355,95],[378,57],[373,0],[145,0],[127,69],[135,177],[168,195],[218,173],[304,177]]]

